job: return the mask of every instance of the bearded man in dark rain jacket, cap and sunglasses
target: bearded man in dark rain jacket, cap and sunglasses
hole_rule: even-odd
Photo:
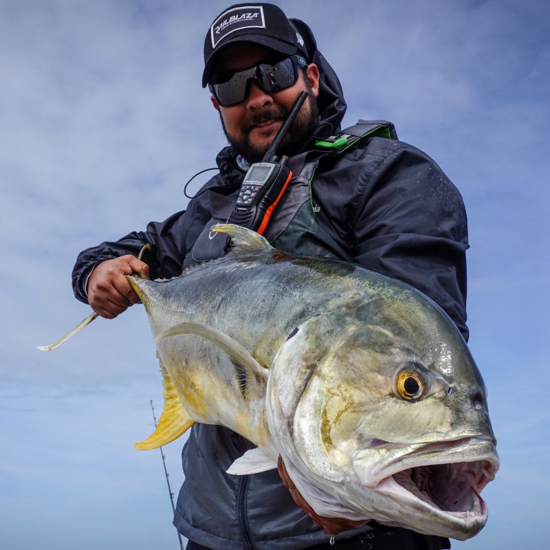
[[[277,151],[294,177],[263,233],[281,250],[360,263],[417,287],[435,300],[467,338],[467,227],[459,192],[430,157],[399,142],[393,125],[364,122],[342,135],[346,103],[311,30],[271,4],[225,10],[204,44],[203,87],[219,112],[230,146],[220,174],[186,212],[146,232],[85,250],[74,269],[78,299],[113,318],[138,298],[125,275],[166,278],[223,254],[210,227],[234,208],[250,163],[262,159],[302,91],[307,100]],[[135,256],[153,247],[147,263]],[[230,476],[229,465],[252,448],[220,426],[193,426],[184,448],[186,481],[174,523],[188,549],[328,548],[332,520],[319,518],[278,472]],[[284,472],[281,472],[284,476]],[[291,486],[292,489],[292,486]],[[327,523],[328,521],[328,523]],[[441,549],[448,540],[375,522],[338,522],[340,549]],[[338,530],[338,529],[335,529]]]

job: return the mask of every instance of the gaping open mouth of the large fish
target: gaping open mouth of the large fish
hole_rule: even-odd
[[[421,500],[457,518],[483,518],[487,505],[480,492],[494,478],[494,470],[489,461],[423,465],[384,478],[377,489]]]

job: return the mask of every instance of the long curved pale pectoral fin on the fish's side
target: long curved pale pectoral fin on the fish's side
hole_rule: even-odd
[[[158,344],[164,338],[195,334],[210,340],[228,356],[233,364],[239,389],[243,397],[260,397],[265,395],[265,384],[269,375],[269,369],[265,369],[239,342],[212,327],[198,322],[182,322],[160,333],[155,338]]]

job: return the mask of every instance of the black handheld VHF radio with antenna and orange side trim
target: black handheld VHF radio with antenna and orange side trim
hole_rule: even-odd
[[[275,153],[306,98],[307,91],[303,91],[294,102],[287,120],[279,129],[262,161],[254,162],[248,169],[228,223],[242,225],[259,234],[263,234],[267,228],[271,214],[292,178],[292,171],[287,168],[288,157],[283,155],[278,159]]]

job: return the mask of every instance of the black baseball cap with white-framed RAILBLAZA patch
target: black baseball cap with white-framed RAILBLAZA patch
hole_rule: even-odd
[[[307,58],[304,39],[274,4],[235,4],[214,19],[204,39],[202,87],[210,82],[217,54],[229,44],[252,42],[291,56]]]

